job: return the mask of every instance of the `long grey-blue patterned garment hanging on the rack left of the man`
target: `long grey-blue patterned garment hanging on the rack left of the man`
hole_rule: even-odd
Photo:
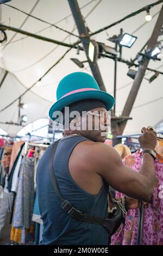
[[[23,157],[12,220],[12,227],[22,229],[22,243],[32,224],[34,194],[34,157]]]

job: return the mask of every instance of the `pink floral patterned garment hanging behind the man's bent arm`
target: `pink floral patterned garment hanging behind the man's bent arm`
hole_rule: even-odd
[[[142,163],[142,153],[140,150],[136,151],[125,157],[123,163],[138,172]],[[143,245],[163,245],[163,157],[157,155],[154,165],[156,183],[148,208],[144,209]],[[122,196],[122,193],[116,192],[116,197]],[[129,210],[125,227],[120,227],[111,237],[111,245],[136,245],[138,225],[139,209]]]

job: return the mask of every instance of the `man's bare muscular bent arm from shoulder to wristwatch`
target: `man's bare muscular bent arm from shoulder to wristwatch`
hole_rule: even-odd
[[[92,145],[91,162],[96,172],[115,190],[129,197],[140,200],[150,200],[154,182],[155,168],[153,157],[143,156],[139,173],[124,166],[116,150],[103,143]]]

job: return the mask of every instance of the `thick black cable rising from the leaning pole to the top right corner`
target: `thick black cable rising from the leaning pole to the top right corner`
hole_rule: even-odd
[[[137,15],[137,14],[140,14],[142,11],[146,11],[147,9],[150,9],[150,8],[154,7],[155,5],[160,4],[160,3],[162,3],[162,2],[163,2],[163,0],[159,0],[159,1],[155,2],[155,3],[148,4],[148,5],[146,5],[145,7],[141,8],[141,9],[139,9],[139,10],[137,10],[137,11],[134,11],[134,13],[128,14],[127,16],[123,17],[121,20],[118,20],[118,21],[116,21],[116,22],[114,22],[114,23],[111,23],[109,26],[106,26],[106,27],[104,27],[104,28],[98,29],[98,31],[95,31],[95,32],[89,34],[89,36],[92,36],[92,35],[96,35],[96,34],[98,34],[98,33],[101,33],[101,32],[103,32],[103,31],[105,31],[106,29],[111,28],[111,27],[113,27],[113,26],[115,26],[115,25],[121,23],[122,21],[127,20],[127,19],[129,19],[130,17],[133,17],[133,16],[135,16],[135,15]]]

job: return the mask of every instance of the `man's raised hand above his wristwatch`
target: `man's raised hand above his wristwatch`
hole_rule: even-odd
[[[155,149],[156,132],[145,127],[142,128],[142,135],[139,137],[139,143],[142,149]]]

